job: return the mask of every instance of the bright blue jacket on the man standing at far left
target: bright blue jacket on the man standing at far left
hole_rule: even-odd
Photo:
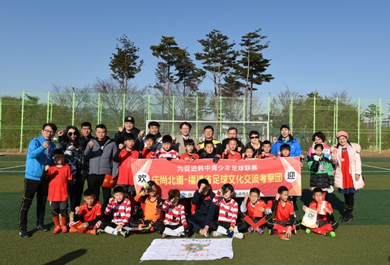
[[[56,144],[50,141],[50,146],[45,149],[42,144],[46,141],[43,135],[31,140],[26,160],[26,179],[40,181],[45,165],[54,164],[53,153],[56,150]]]

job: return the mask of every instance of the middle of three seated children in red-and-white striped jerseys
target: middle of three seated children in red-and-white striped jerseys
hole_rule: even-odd
[[[164,225],[159,225],[157,231],[159,234],[162,234],[162,237],[192,236],[192,229],[194,227],[191,223],[187,225],[185,208],[182,204],[179,204],[180,190],[169,190],[168,195],[169,198],[162,205],[162,211],[165,212]]]

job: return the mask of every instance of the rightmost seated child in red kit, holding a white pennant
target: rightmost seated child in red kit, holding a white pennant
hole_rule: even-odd
[[[317,210],[318,209],[318,201],[324,199],[324,194],[320,188],[315,188],[313,190],[313,202],[309,205],[310,209]],[[306,206],[302,208],[306,211]],[[324,236],[335,237],[336,234],[334,230],[338,227],[338,223],[334,220],[333,208],[331,208],[331,204],[326,202],[326,207],[324,209],[325,215],[317,214],[317,225],[318,228],[306,228],[306,234],[317,233],[322,234]]]

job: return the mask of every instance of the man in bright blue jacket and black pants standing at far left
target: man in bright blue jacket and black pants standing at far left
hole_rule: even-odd
[[[52,165],[53,152],[56,144],[52,142],[52,137],[56,133],[57,126],[54,123],[45,123],[42,126],[42,136],[31,140],[26,160],[26,174],[24,179],[24,192],[22,205],[19,211],[19,234],[22,238],[30,237],[27,232],[27,214],[33,201],[34,195],[37,194],[37,229],[42,232],[49,231],[43,220],[45,218],[47,192],[49,183],[41,181],[43,169],[46,165]]]

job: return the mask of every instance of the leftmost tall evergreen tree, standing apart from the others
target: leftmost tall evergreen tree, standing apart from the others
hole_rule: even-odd
[[[112,54],[110,57],[111,62],[109,67],[114,72],[111,74],[114,79],[119,82],[127,92],[127,79],[133,79],[137,73],[141,71],[141,66],[143,66],[143,60],[137,63],[139,56],[136,53],[139,51],[139,48],[134,46],[130,40],[127,40],[127,36],[123,34],[122,38],[117,38],[119,43],[122,44],[120,47],[116,45],[116,54]]]

